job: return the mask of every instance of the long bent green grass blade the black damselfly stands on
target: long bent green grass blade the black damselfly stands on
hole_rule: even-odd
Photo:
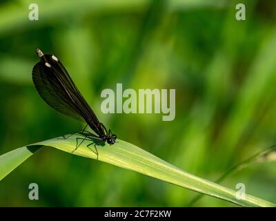
[[[79,135],[72,135],[66,140],[62,137],[57,137],[29,146],[23,146],[1,155],[0,180],[19,166],[19,164],[28,159],[28,157],[30,157],[34,151],[41,148],[41,146],[52,146],[61,151],[72,153],[72,151],[75,150],[77,137],[79,137]],[[79,143],[80,142],[81,140],[79,140]],[[117,140],[112,146],[106,143],[98,145],[97,149],[94,145],[90,145],[89,148],[87,147],[87,145],[92,142],[97,143],[99,140],[85,140],[73,153],[82,157],[97,159],[115,166],[120,166],[124,169],[136,171],[144,175],[149,175],[150,177],[155,177],[159,180],[164,180],[177,186],[182,186],[186,189],[204,193],[241,206],[276,206],[271,202],[247,194],[244,200],[237,200],[235,191],[220,186],[219,184],[209,182],[208,180],[201,179],[190,173],[186,173],[176,166],[172,166],[168,162],[161,160],[159,157],[123,140]],[[98,155],[96,153],[98,153]]]

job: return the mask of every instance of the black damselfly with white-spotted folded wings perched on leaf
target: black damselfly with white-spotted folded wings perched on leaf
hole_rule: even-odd
[[[114,144],[116,135],[110,130],[107,131],[106,127],[99,122],[61,61],[55,55],[43,55],[40,49],[37,49],[37,55],[40,61],[32,69],[32,81],[43,100],[60,113],[86,122],[95,131],[97,135],[88,131],[83,133],[84,128],[81,135],[85,138],[80,138],[82,142],[97,137],[100,142],[106,141],[110,145]],[[78,144],[76,149],[77,147]]]

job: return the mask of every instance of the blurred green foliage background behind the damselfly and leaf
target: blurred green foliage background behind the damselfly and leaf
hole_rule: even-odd
[[[39,5],[39,21],[28,6]],[[246,21],[235,19],[237,3]],[[56,55],[121,140],[208,180],[276,143],[276,2],[0,1],[0,154],[79,131],[32,84],[35,49]],[[175,88],[176,117],[101,113],[101,90]],[[222,185],[276,202],[275,162]],[[39,184],[39,200],[28,185]],[[196,193],[43,148],[0,182],[0,206],[187,206]],[[204,197],[197,206],[233,206]]]

